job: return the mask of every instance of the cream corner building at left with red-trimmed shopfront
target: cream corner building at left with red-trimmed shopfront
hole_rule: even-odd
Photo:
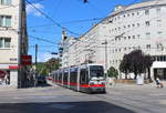
[[[21,55],[27,52],[24,0],[0,0],[0,85],[19,86]]]

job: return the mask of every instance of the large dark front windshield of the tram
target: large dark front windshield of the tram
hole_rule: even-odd
[[[90,66],[90,78],[104,78],[104,69],[101,65]]]

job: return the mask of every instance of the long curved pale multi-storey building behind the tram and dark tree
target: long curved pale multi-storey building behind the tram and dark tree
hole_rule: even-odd
[[[69,48],[74,51],[74,64],[87,59],[105,65],[105,71],[110,66],[118,70],[124,54],[133,50],[151,54],[155,60],[152,76],[166,79],[166,0],[117,6]],[[120,78],[124,78],[121,72]]]

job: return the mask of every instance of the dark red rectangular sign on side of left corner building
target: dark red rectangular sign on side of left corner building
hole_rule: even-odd
[[[31,65],[32,64],[32,55],[21,55],[21,64],[22,65]]]

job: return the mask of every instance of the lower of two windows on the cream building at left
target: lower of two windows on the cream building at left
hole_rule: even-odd
[[[10,38],[0,38],[0,49],[9,49],[11,44]]]

